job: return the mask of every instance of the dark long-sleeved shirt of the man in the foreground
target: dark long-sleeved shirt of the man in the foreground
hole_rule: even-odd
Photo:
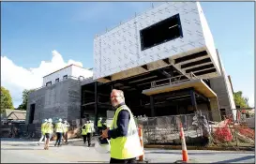
[[[126,105],[126,104],[121,103],[116,107],[116,109],[118,109],[122,105]],[[117,116],[117,123],[116,123],[117,128],[114,128],[108,131],[109,138],[115,139],[117,137],[126,136],[128,134],[129,119],[130,119],[130,115],[127,110],[120,111]]]

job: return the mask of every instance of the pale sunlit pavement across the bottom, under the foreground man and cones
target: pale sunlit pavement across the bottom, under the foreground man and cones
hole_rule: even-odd
[[[87,147],[82,140],[70,141],[68,145],[43,150],[37,142],[2,139],[2,163],[103,163],[109,162],[109,153],[100,152],[98,147]],[[173,163],[181,159],[179,150],[146,149],[145,157],[149,162]],[[193,162],[205,163],[254,163],[254,152],[190,150],[188,157]]]

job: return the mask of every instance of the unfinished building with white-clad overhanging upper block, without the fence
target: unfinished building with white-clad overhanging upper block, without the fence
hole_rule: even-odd
[[[43,87],[29,95],[27,123],[106,117],[113,88],[124,91],[134,115],[200,110],[219,121],[235,109],[231,81],[199,2],[163,3],[96,35],[93,71],[66,69],[53,72],[60,76],[53,80],[44,77]]]

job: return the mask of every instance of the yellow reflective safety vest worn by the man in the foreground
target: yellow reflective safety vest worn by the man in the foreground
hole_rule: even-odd
[[[122,105],[116,110],[113,116],[111,129],[117,128],[118,113],[122,110],[127,110],[129,112],[130,119],[128,123],[128,134],[127,136],[111,139],[111,157],[116,159],[140,157],[143,155],[143,148],[141,146],[133,115],[128,109],[128,106]]]

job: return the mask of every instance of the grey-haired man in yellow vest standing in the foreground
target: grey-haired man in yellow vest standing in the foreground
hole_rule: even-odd
[[[136,157],[143,155],[143,148],[133,115],[125,104],[124,92],[113,89],[111,101],[116,110],[113,123],[101,135],[102,138],[111,139],[110,163],[137,163]]]

